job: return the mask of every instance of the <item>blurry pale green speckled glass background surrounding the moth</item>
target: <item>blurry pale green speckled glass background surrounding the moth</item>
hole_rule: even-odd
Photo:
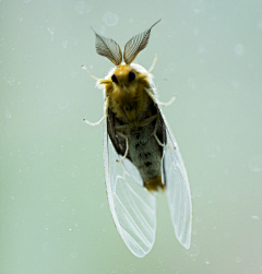
[[[262,273],[262,3],[259,0],[0,2],[0,272]],[[158,19],[150,68],[193,195],[192,243],[157,198],[153,250],[135,258],[107,204],[104,78],[93,26],[122,48]]]

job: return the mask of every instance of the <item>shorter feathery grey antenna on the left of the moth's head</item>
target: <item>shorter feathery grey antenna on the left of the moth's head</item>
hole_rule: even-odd
[[[122,51],[118,44],[110,38],[98,35],[95,31],[94,33],[96,35],[96,52],[100,56],[107,57],[116,65],[120,64],[122,61]]]

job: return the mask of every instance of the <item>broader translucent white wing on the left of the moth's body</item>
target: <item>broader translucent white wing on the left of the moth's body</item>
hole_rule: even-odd
[[[106,120],[106,119],[105,119]],[[116,153],[104,122],[104,165],[109,207],[118,233],[130,251],[142,258],[155,241],[155,196],[143,188],[139,171],[129,159],[116,160]]]

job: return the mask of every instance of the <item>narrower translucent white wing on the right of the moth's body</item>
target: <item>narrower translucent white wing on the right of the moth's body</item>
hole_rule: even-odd
[[[163,177],[166,183],[167,200],[177,239],[184,248],[189,249],[192,226],[189,179],[177,142],[164,117],[163,120],[166,124],[167,135],[163,158]]]

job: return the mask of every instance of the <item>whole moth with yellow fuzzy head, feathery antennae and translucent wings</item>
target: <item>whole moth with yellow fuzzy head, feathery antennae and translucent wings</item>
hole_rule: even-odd
[[[96,79],[83,67],[105,94],[104,117],[96,123],[84,121],[92,126],[104,121],[104,165],[112,219],[127,247],[139,258],[146,255],[155,241],[156,191],[165,190],[176,237],[187,249],[192,223],[187,171],[159,108],[152,69],[133,63],[146,47],[154,25],[133,36],[123,55],[115,40],[95,32],[97,53],[116,67],[105,79]]]

